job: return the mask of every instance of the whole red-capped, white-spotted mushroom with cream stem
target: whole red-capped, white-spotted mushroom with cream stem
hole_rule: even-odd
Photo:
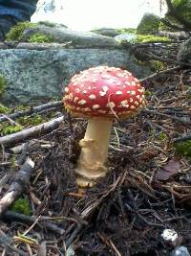
[[[93,186],[107,173],[113,120],[132,116],[145,105],[144,88],[130,72],[97,66],[75,75],[65,88],[64,105],[74,116],[88,118],[75,173],[79,187]]]

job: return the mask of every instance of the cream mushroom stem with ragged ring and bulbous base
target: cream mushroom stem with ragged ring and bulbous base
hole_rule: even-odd
[[[92,187],[97,178],[106,175],[111,128],[112,120],[94,118],[88,121],[85,136],[79,142],[81,152],[75,170],[79,187]]]

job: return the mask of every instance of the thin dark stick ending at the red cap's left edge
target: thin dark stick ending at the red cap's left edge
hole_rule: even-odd
[[[49,104],[33,106],[30,109],[27,109],[24,111],[17,111],[15,113],[12,113],[12,114],[6,115],[6,116],[2,115],[2,116],[0,116],[0,122],[7,121],[8,118],[15,119],[15,118],[19,118],[22,116],[32,115],[33,113],[38,113],[38,112],[41,112],[42,110],[52,108],[52,107],[59,107],[61,105],[63,105],[62,102],[58,101],[58,102],[53,102],[53,103],[49,103]]]

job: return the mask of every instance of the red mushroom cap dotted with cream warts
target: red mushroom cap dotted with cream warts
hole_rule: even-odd
[[[127,70],[97,66],[75,75],[65,88],[64,105],[77,116],[127,117],[145,105],[144,88]]]

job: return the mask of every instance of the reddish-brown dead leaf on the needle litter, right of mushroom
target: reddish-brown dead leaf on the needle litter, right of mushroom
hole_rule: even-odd
[[[180,160],[171,159],[159,172],[154,175],[154,180],[168,180],[172,175],[177,175],[180,171]]]

